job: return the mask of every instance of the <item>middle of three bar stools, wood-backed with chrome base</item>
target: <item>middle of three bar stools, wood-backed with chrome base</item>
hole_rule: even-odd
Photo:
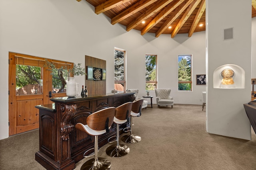
[[[116,113],[114,117],[114,123],[116,123],[116,136],[112,136],[108,139],[109,143],[116,141],[116,145],[111,145],[106,149],[106,154],[113,158],[125,156],[130,152],[130,148],[126,145],[119,144],[119,125],[129,121],[131,115],[132,102],[127,102],[121,106],[116,107]],[[110,139],[116,137],[116,140],[110,141]]]

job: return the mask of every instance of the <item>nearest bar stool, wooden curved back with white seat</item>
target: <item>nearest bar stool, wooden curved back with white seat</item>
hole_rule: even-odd
[[[98,135],[102,135],[104,133],[108,133],[111,125],[114,122],[115,115],[115,107],[108,107],[106,109],[102,109],[96,111],[89,115],[86,119],[86,125],[82,123],[76,124],[76,129],[80,131],[86,132],[91,136],[94,136],[94,154],[92,153],[89,156],[94,155],[94,158],[86,161],[81,170],[109,170],[111,167],[111,163],[106,158],[98,158]],[[92,150],[92,149],[89,149]],[[86,152],[88,152],[87,150]],[[86,154],[84,153],[84,155]],[[85,158],[89,156],[84,156]]]

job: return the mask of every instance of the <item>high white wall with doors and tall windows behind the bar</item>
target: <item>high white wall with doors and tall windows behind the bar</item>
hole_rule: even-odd
[[[256,20],[254,20],[254,27]],[[254,46],[255,46],[254,35]],[[114,89],[114,47],[127,51],[127,88],[145,92],[145,54],[158,55],[158,87],[171,88],[176,104],[201,105],[205,86],[195,84],[196,74],[206,74],[205,31],[154,37],[152,33],[126,31],[112,25],[104,14],[96,15],[86,1],[0,0],[0,139],[8,137],[8,52],[82,63],[89,55],[106,60],[107,92]],[[256,51],[254,51],[255,56]],[[178,92],[178,55],[192,54],[193,92]],[[256,77],[256,75],[255,75]],[[84,84],[83,76],[76,81]],[[150,92],[155,95],[154,92]],[[153,103],[156,103],[155,98]]]

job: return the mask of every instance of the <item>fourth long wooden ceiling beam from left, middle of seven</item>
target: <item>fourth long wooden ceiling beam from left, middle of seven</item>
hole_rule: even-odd
[[[145,33],[147,33],[152,27],[154,27],[164,17],[166,17],[168,14],[170,14],[170,12],[172,12],[175,8],[177,8],[182,2],[184,2],[184,0],[176,0],[176,1],[172,1],[170,4],[168,4],[166,6],[166,8],[164,8],[160,12],[160,14],[158,14],[158,16],[156,16],[152,21],[150,21],[150,23],[148,23],[148,25],[146,25],[146,27],[144,27],[141,30],[140,34],[144,35]]]

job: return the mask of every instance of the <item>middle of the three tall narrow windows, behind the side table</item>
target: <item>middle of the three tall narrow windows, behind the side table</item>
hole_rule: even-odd
[[[156,61],[157,55],[146,54],[146,90],[157,88]]]

